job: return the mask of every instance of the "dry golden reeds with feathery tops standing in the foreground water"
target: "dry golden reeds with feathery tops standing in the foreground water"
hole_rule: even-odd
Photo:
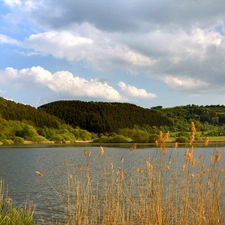
[[[91,153],[86,150],[86,164],[78,164],[75,171],[64,162],[68,172],[65,224],[225,224],[225,167],[220,151],[216,149],[209,159],[195,153],[193,123],[191,129],[190,148],[184,154],[177,144],[168,153],[169,133],[160,133],[157,151],[146,157],[145,164],[136,165],[133,145],[132,171],[124,169],[125,157],[117,168],[110,159],[103,162],[102,147],[98,170],[90,164]]]

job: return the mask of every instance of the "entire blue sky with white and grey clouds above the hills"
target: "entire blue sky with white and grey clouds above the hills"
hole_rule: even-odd
[[[225,0],[0,0],[0,96],[225,105]]]

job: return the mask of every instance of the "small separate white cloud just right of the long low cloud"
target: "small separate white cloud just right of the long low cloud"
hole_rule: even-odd
[[[156,98],[157,96],[152,93],[148,93],[145,89],[138,89],[135,86],[127,85],[124,82],[120,81],[118,86],[121,90],[129,97],[138,97],[138,98]]]

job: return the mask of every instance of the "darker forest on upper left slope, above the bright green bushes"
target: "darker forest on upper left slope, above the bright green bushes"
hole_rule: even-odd
[[[0,117],[6,120],[18,120],[27,122],[35,127],[58,128],[62,121],[43,110],[32,106],[15,103],[0,97]]]

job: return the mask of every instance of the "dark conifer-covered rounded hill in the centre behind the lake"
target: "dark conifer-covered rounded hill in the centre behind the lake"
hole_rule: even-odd
[[[94,133],[117,132],[119,128],[133,128],[134,125],[173,125],[162,113],[129,103],[56,101],[38,109]]]

